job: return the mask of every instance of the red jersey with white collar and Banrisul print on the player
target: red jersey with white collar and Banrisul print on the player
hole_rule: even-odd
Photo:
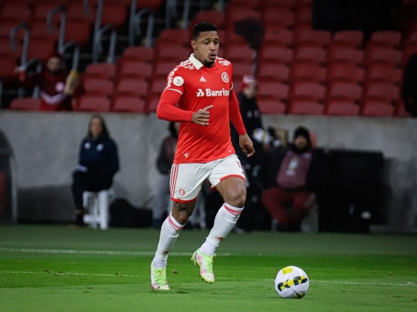
[[[191,55],[167,76],[167,85],[158,110],[162,110],[160,106],[166,103],[162,100],[164,94],[165,98],[174,96],[179,99],[177,103],[170,104],[186,111],[181,121],[187,121],[181,122],[174,164],[211,162],[235,153],[230,140],[229,126],[232,73],[231,62],[224,58],[217,58],[213,67],[205,67],[194,55]],[[176,92],[176,94],[167,94],[168,92]],[[236,98],[234,94],[233,96]],[[191,121],[193,112],[208,105],[213,105],[209,110],[209,124],[204,126],[193,123]],[[239,118],[241,121],[240,114]],[[170,116],[166,116],[166,119],[171,120]],[[243,130],[240,129],[239,134],[245,133],[243,122],[241,124],[240,128]]]

